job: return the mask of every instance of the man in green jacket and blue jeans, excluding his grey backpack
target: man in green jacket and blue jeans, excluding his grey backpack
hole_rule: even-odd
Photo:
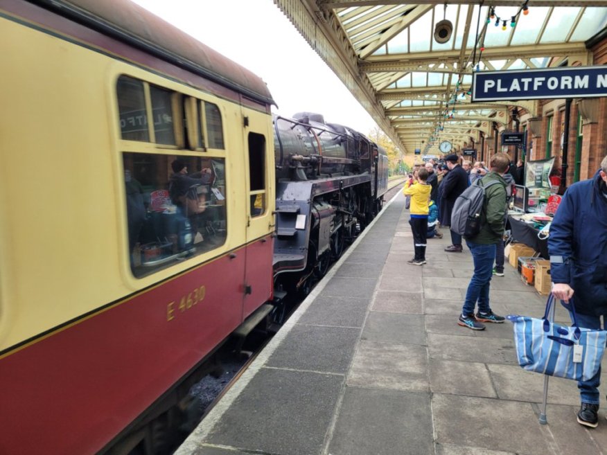
[[[464,307],[457,323],[472,330],[484,330],[484,322],[503,323],[504,317],[491,311],[489,306],[489,285],[493,275],[495,247],[504,235],[504,220],[506,218],[506,181],[504,173],[508,171],[510,158],[505,153],[496,153],[489,161],[491,171],[483,177],[479,184],[487,186],[489,181],[496,180],[497,185],[486,189],[483,211],[481,214],[480,233],[466,238],[466,245],[472,253],[474,274],[468,285]],[[474,309],[478,303],[478,312]]]

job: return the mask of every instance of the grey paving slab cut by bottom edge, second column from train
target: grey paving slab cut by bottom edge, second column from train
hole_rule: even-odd
[[[347,387],[331,455],[434,455],[430,396]]]

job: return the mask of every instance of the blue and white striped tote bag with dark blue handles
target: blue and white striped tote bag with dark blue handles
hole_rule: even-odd
[[[548,296],[542,319],[507,316],[514,325],[518,364],[543,375],[589,380],[601,366],[607,331],[578,327],[573,303],[572,327],[549,321],[550,305],[554,305],[552,294]]]

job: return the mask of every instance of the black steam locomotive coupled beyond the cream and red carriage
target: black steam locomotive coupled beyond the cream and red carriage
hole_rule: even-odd
[[[387,191],[385,150],[320,114],[274,116],[278,283],[307,294],[346,242],[381,210]]]

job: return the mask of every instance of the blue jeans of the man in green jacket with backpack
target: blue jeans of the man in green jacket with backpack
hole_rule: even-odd
[[[493,276],[493,261],[495,260],[495,244],[483,245],[466,240],[466,245],[472,253],[474,274],[466,291],[466,300],[461,314],[474,314],[478,302],[478,310],[483,313],[491,312],[489,307],[489,285]]]

